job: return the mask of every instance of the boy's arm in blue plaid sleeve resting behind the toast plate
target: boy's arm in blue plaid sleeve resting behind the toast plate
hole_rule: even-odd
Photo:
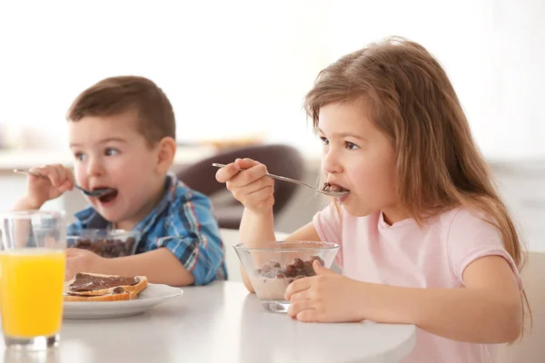
[[[69,249],[66,279],[85,271],[145,275],[152,283],[173,286],[204,285],[214,280],[224,255],[218,225],[209,199],[199,193],[188,195],[171,206],[164,237],[156,242],[157,249],[116,259],[104,259],[89,250]]]

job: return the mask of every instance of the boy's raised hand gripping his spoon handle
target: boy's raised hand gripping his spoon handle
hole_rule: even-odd
[[[29,205],[28,209],[39,209],[45,201],[58,198],[64,191],[71,191],[74,188],[72,171],[61,164],[33,168],[31,172],[42,174],[45,178],[28,175],[24,197]]]

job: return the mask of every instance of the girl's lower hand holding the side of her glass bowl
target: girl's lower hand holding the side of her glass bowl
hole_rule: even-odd
[[[365,304],[365,282],[356,281],[326,269],[315,260],[316,276],[294,280],[286,289],[291,302],[288,314],[301,321],[362,321],[360,307]]]

